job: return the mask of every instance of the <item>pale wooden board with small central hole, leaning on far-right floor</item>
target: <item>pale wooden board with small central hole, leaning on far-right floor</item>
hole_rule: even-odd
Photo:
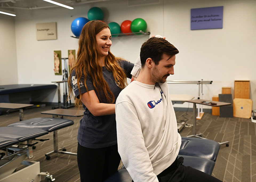
[[[253,101],[251,99],[235,98],[233,100],[233,113],[237,118],[251,118]]]

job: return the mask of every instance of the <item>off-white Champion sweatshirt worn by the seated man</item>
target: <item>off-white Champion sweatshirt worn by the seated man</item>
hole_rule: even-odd
[[[139,71],[138,59],[132,75]],[[115,107],[118,152],[127,171],[134,182],[158,182],[157,175],[174,162],[181,146],[167,82],[133,81]]]

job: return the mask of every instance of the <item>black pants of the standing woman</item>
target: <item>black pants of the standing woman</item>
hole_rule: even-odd
[[[81,182],[101,182],[114,174],[120,163],[117,144],[104,148],[87,148],[78,143],[77,163]]]

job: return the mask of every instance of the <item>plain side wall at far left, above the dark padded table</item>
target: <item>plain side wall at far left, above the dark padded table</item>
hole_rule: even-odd
[[[18,84],[15,21],[0,14],[0,85]]]

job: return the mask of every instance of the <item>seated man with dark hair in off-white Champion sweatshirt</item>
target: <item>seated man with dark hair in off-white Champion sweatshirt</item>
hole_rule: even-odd
[[[153,37],[142,44],[131,74],[137,79],[116,101],[118,152],[134,182],[219,181],[182,165],[177,121],[166,79],[178,49]],[[198,177],[199,176],[199,177]]]

